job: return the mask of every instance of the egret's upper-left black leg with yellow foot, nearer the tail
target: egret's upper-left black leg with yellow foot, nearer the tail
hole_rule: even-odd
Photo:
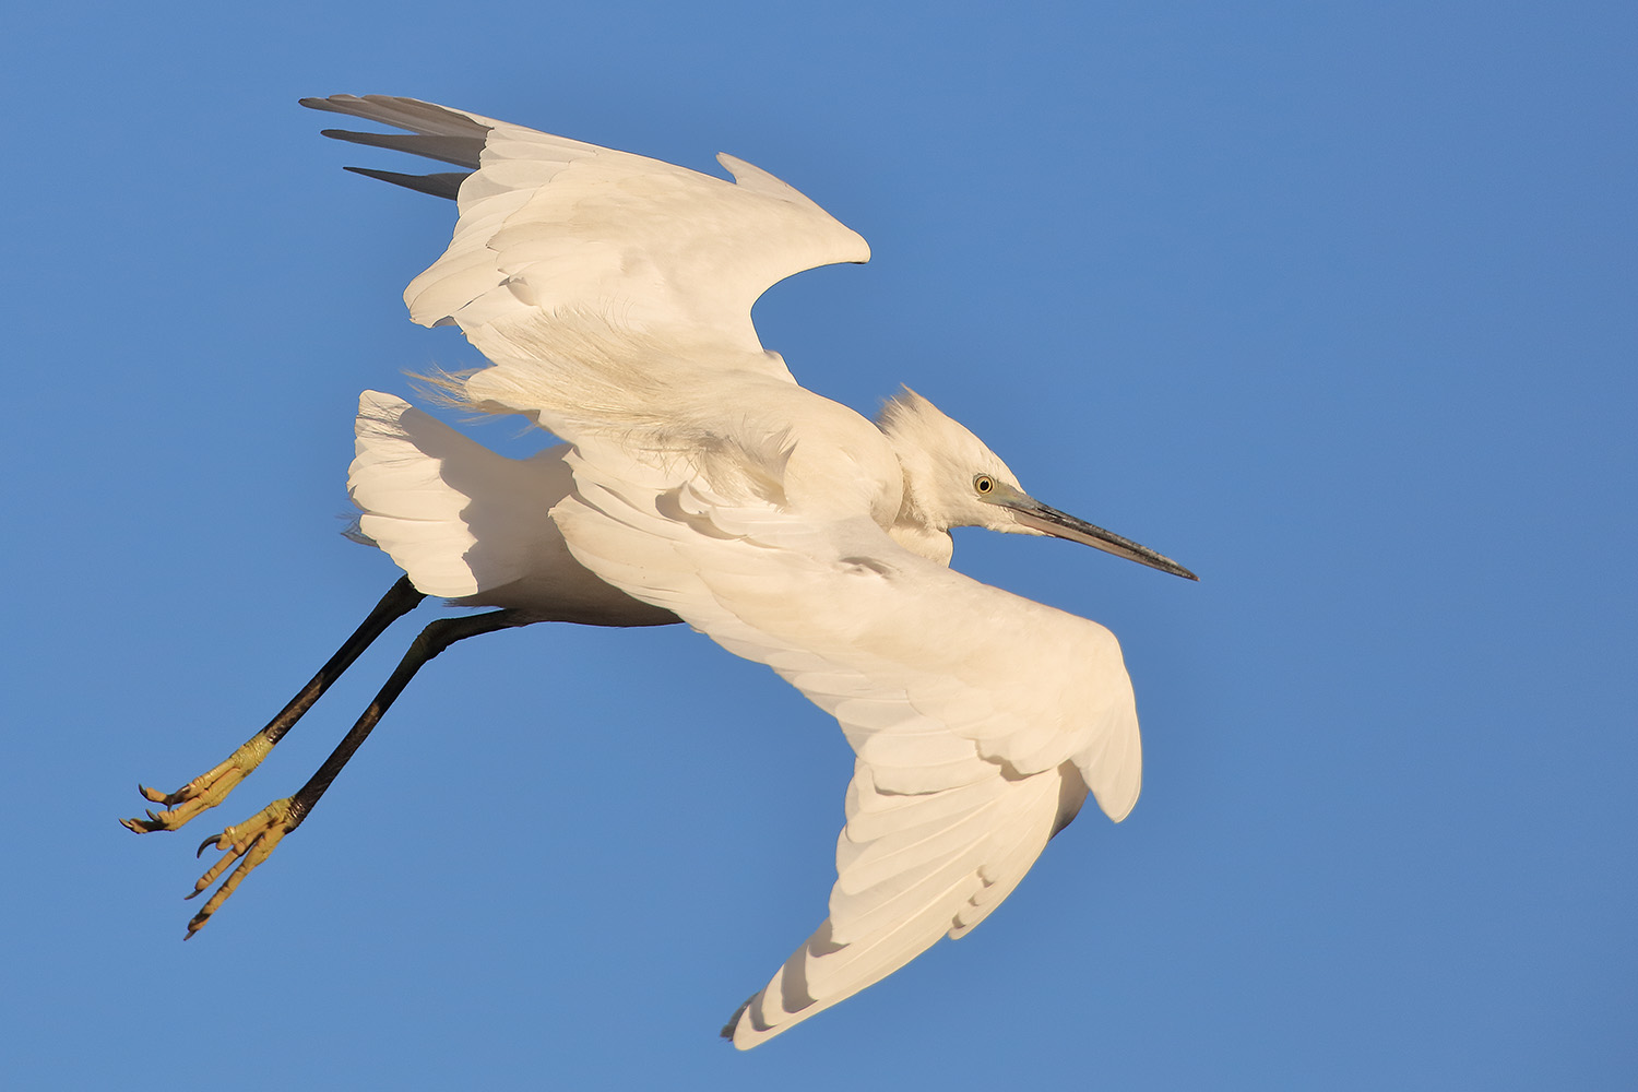
[[[290,704],[278,711],[272,720],[267,722],[260,732],[252,735],[244,742],[239,750],[228,756],[226,761],[218,763],[210,771],[193,778],[185,786],[175,792],[165,794],[159,789],[149,789],[147,786],[138,786],[141,794],[152,801],[154,804],[162,804],[165,810],[147,812],[147,819],[121,819],[120,822],[138,833],[147,833],[151,830],[175,830],[185,822],[198,815],[208,807],[216,807],[221,801],[238,786],[244,778],[256,769],[267,751],[274,748],[274,743],[283,738],[285,732],[295,727],[295,722],[301,719],[313,702],[329,689],[331,683],[339,679],[342,673],[352,666],[365,648],[369,648],[377,637],[387,632],[387,627],[401,619],[405,614],[413,611],[421,599],[424,599],[414,584],[410,583],[408,576],[400,576],[382,601],[375,604],[369,617],[354,630],[341,648],[336,650],[324,666],[318,670],[318,675],[301,688],[301,691],[290,699]]]

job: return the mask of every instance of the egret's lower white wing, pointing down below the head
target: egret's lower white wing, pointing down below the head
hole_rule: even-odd
[[[1101,625],[896,547],[868,517],[812,524],[667,460],[583,442],[552,511],[575,557],[767,663],[832,712],[858,761],[830,915],[724,1028],[739,1048],[960,936],[1091,787],[1137,801],[1132,688]]]

